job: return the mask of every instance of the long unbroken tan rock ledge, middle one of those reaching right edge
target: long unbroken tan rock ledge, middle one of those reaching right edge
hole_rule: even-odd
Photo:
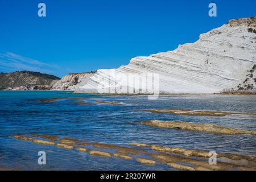
[[[256,131],[233,129],[232,127],[220,126],[210,123],[192,123],[184,121],[160,121],[150,120],[139,122],[142,125],[153,126],[153,127],[164,127],[177,130],[191,130],[191,131],[205,131],[209,133],[220,133],[220,134],[250,134],[256,135]]]

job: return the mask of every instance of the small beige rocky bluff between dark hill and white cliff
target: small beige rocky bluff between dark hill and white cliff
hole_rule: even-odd
[[[55,82],[52,90],[75,90],[77,87],[85,85],[94,72],[88,73],[71,73]]]

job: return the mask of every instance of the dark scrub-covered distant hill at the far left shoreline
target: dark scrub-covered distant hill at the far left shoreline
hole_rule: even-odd
[[[59,77],[39,72],[0,73],[0,90],[49,90]]]

